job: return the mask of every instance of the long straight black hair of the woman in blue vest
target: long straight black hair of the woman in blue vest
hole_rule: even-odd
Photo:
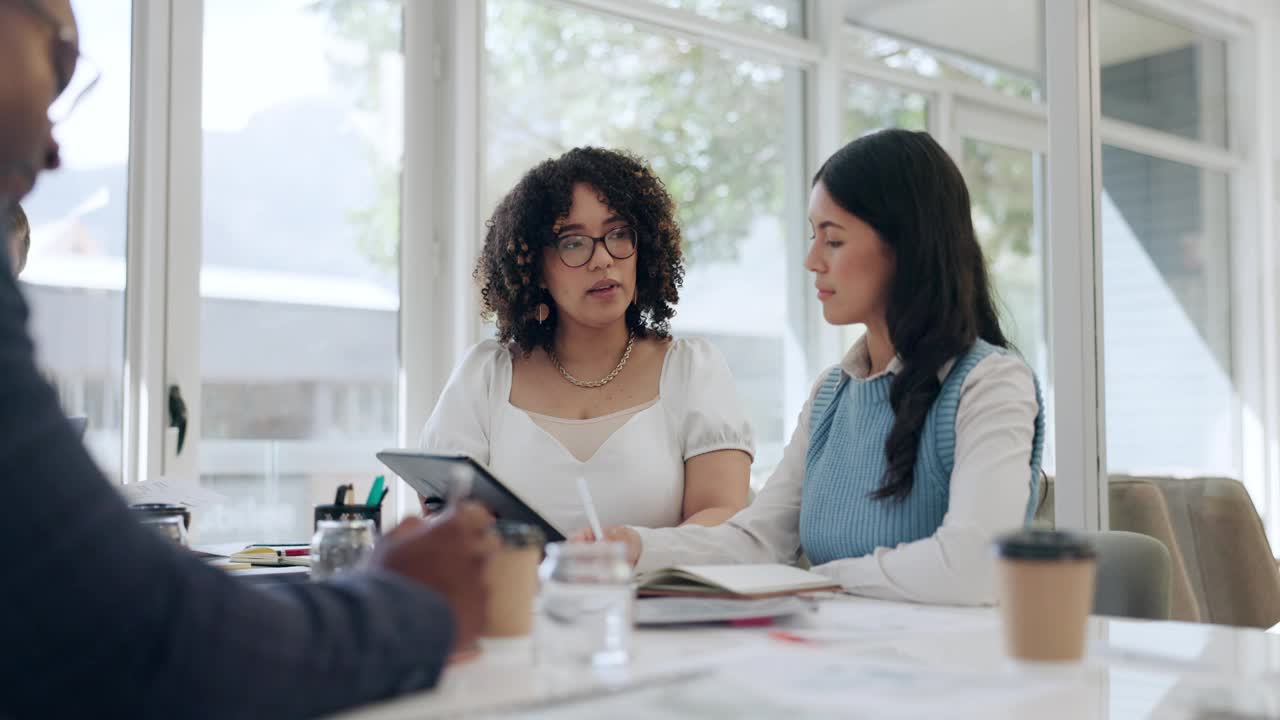
[[[813,182],[874,228],[896,258],[886,320],[902,372],[890,387],[888,468],[872,497],[902,500],[914,484],[924,419],[942,391],[938,370],[978,338],[1010,346],[973,229],[969,188],[937,141],[901,129],[841,147]]]

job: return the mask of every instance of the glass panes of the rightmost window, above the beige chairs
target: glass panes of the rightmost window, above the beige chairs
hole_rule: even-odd
[[[1225,42],[1103,5],[1102,113],[1226,143]],[[1103,137],[1106,141],[1106,137]],[[1229,177],[1152,151],[1102,149],[1107,466],[1242,477]]]

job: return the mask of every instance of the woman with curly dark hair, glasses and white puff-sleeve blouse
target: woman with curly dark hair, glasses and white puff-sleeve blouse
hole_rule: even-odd
[[[454,369],[424,450],[475,457],[562,532],[588,524],[580,477],[608,524],[742,509],[751,428],[719,351],[671,337],[684,260],[653,170],[571,150],[525,174],[488,228],[475,274],[498,338]]]

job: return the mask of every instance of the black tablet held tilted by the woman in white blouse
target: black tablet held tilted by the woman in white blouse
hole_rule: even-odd
[[[488,468],[467,455],[424,452],[421,450],[384,450],[378,454],[397,475],[424,497],[449,497],[454,484],[461,497],[484,505],[499,520],[536,525],[547,542],[561,542],[564,533],[552,525],[515,491],[502,484]]]

